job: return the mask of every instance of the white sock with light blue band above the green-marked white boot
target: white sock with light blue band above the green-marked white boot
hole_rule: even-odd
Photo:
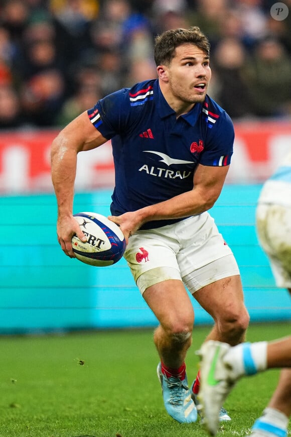
[[[223,358],[233,372],[233,379],[254,375],[267,368],[267,342],[241,343],[229,349]]]

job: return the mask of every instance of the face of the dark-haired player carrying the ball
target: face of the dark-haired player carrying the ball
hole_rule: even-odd
[[[167,68],[171,93],[185,103],[203,102],[211,78],[209,58],[194,44],[176,48],[175,57]]]

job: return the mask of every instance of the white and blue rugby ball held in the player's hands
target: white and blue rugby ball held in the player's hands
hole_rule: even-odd
[[[102,267],[115,264],[122,258],[126,244],[115,223],[96,212],[78,212],[74,217],[87,237],[85,243],[76,235],[72,238],[73,251],[78,260]]]

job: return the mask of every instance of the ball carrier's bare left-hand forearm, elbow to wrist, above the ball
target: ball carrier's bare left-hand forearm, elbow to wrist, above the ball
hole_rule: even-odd
[[[52,181],[57,197],[58,214],[72,214],[77,153],[65,145],[53,144],[51,153]]]

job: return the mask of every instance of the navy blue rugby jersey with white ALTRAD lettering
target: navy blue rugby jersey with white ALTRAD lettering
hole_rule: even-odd
[[[88,110],[95,128],[111,139],[115,188],[111,214],[120,215],[193,189],[197,165],[225,166],[233,152],[234,129],[209,96],[176,119],[158,79],[123,88]],[[183,219],[148,222],[158,228]]]

